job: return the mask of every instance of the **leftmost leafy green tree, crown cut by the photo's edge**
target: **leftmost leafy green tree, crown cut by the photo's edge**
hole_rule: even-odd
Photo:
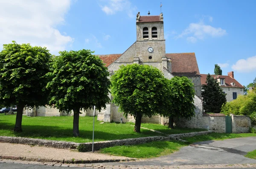
[[[51,54],[46,48],[12,42],[3,45],[0,52],[0,103],[17,105],[14,131],[22,132],[23,108],[47,103],[45,75],[49,72]]]

